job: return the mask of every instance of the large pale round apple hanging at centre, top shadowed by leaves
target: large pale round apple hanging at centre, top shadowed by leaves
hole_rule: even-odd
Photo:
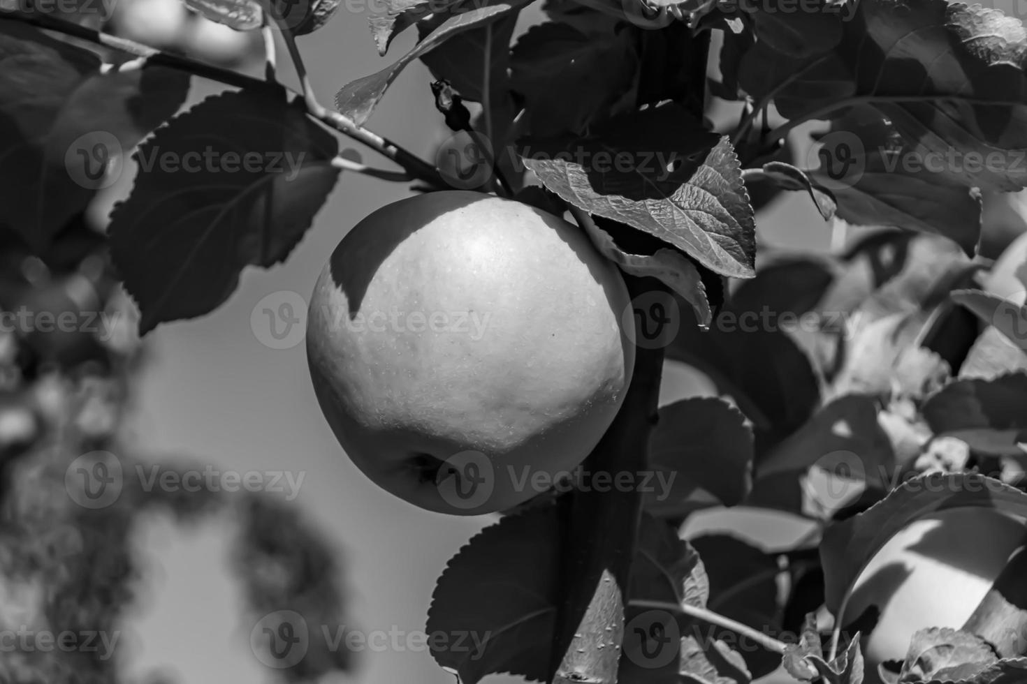
[[[541,493],[532,477],[551,483],[599,442],[631,383],[629,307],[620,273],[575,226],[490,195],[429,193],[375,211],[333,252],[307,360],[371,480],[429,511],[480,515]],[[416,312],[431,329],[406,322]],[[436,485],[455,474],[462,486],[450,466],[467,452],[487,459],[484,500]]]

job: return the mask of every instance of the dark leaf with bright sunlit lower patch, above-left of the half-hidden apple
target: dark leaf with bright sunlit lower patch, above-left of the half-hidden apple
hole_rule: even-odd
[[[867,489],[884,491],[896,456],[866,396],[835,399],[763,455],[750,504],[824,520]]]

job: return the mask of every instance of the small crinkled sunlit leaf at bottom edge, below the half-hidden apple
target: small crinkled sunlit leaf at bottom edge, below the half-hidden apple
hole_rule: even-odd
[[[997,660],[994,649],[977,635],[952,628],[919,630],[910,641],[899,681],[904,684],[930,681],[951,668],[958,668],[960,673],[958,678],[948,681],[961,681]]]

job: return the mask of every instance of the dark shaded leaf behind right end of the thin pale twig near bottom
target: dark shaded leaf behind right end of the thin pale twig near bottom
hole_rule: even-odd
[[[710,577],[707,608],[764,633],[781,632],[777,617],[777,560],[774,556],[727,534],[707,534],[691,540]],[[753,677],[781,665],[781,656],[748,637],[699,623],[692,633],[699,643],[732,640]]]

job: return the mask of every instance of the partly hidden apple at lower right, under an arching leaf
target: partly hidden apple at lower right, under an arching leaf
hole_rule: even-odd
[[[841,617],[848,625],[880,609],[864,642],[868,684],[880,681],[878,665],[906,657],[918,630],[962,628],[1025,541],[1023,522],[985,508],[941,511],[892,536],[860,573]]]

